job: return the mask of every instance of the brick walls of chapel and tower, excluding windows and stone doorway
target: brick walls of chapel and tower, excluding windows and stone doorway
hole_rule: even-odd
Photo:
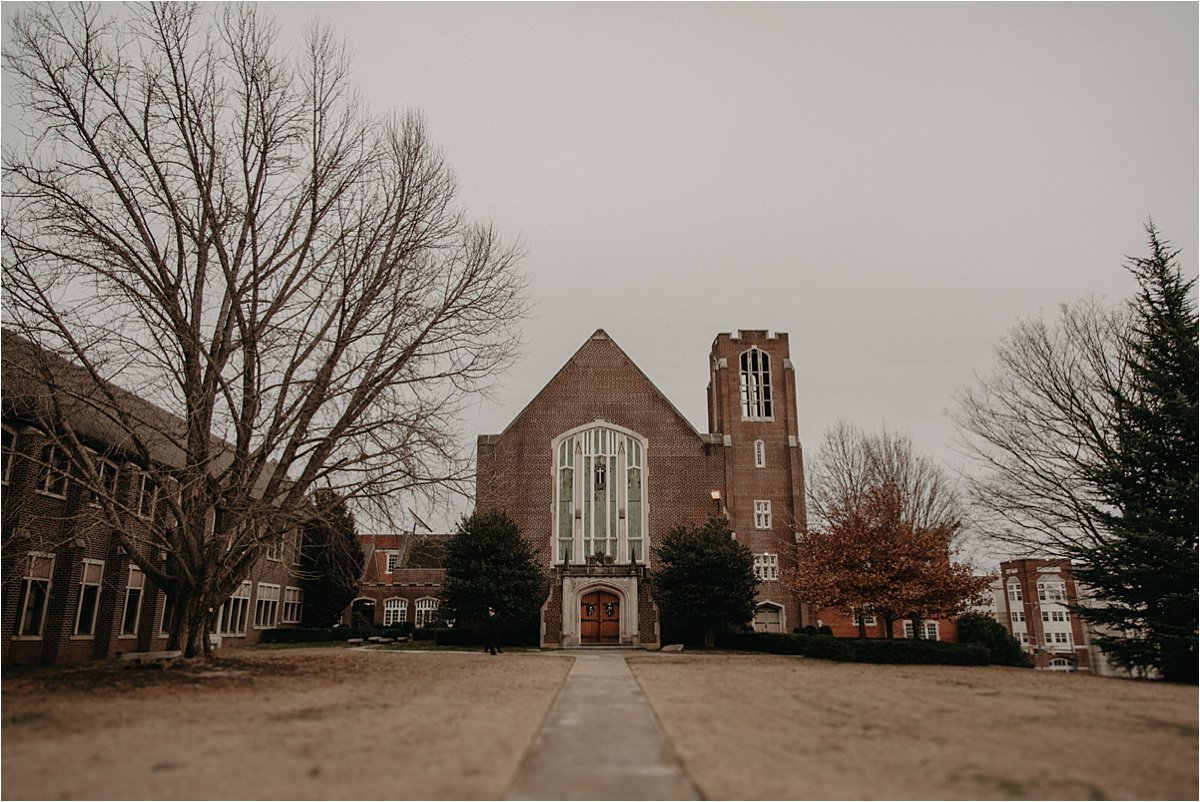
[[[768,420],[740,415],[738,355],[751,347],[772,359],[773,405]],[[672,528],[728,515],[738,540],[752,551],[778,555],[780,571],[794,564],[794,533],[804,527],[803,455],[796,435],[796,389],[787,335],[766,331],[720,335],[709,354],[712,433],[701,433],[604,331],[596,331],[499,435],[478,444],[475,505],[511,517],[534,547],[542,568],[553,564],[553,441],[604,421],[646,441],[647,558]],[[721,366],[721,363],[725,366]],[[732,367],[731,367],[732,366]],[[755,441],[764,444],[766,467],[755,465]],[[721,493],[714,504],[712,492]],[[755,528],[754,502],[770,499],[772,526]],[[659,642],[659,614],[644,582],[638,585],[638,639]],[[781,582],[763,582],[761,600],[785,610],[786,628],[802,611]],[[560,644],[560,588],[542,609],[545,646]]]

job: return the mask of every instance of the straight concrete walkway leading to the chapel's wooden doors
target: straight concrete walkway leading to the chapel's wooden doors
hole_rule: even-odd
[[[509,800],[698,800],[624,651],[580,651]]]

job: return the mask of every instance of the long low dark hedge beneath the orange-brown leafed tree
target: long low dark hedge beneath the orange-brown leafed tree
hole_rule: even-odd
[[[722,633],[716,645],[744,652],[802,654],[840,663],[898,663],[907,665],[988,665],[988,650],[978,644],[881,638],[830,638],[782,633]]]

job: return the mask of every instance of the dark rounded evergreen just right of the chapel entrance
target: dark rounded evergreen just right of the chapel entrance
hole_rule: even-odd
[[[716,629],[744,626],[754,616],[754,556],[733,539],[728,521],[710,517],[704,526],[679,526],[654,549],[650,581],[665,617],[704,634],[713,646]]]

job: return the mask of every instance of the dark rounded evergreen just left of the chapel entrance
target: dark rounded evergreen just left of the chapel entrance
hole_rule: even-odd
[[[546,600],[546,577],[533,547],[503,513],[475,513],[458,522],[443,562],[442,610],[463,627],[481,624],[487,608],[508,628],[538,618]]]

